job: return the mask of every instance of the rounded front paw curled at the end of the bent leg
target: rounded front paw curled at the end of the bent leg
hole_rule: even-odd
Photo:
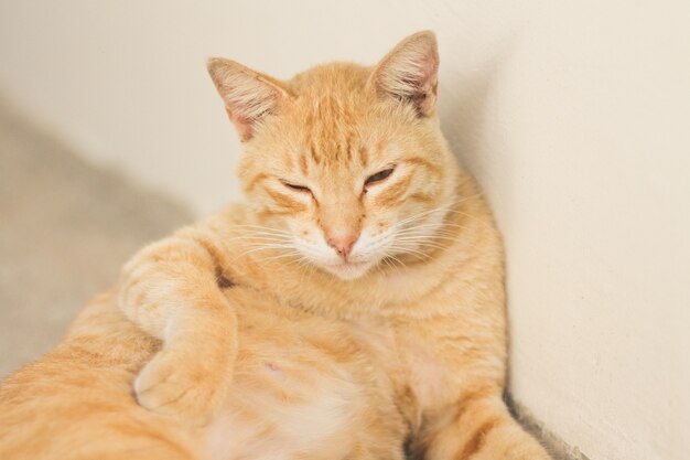
[[[137,400],[147,409],[205,425],[223,403],[229,382],[229,361],[163,350],[134,381]]]

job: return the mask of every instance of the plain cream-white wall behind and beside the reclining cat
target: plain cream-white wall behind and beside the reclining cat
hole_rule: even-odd
[[[431,28],[508,249],[511,388],[592,460],[690,458],[690,10],[678,1],[4,0],[0,90],[207,213],[237,140],[204,60],[289,77]]]

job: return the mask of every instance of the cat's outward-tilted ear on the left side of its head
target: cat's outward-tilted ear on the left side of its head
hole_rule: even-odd
[[[263,116],[276,111],[281,100],[290,98],[279,81],[235,61],[212,57],[207,67],[242,142],[251,139],[256,124]]]

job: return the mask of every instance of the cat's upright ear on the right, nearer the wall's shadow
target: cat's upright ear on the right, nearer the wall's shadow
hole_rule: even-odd
[[[439,50],[431,31],[408,36],[376,66],[369,84],[382,97],[414,106],[420,117],[433,114],[439,86]]]

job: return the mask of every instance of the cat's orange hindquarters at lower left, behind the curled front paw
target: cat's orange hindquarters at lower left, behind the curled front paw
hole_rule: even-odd
[[[0,459],[198,460],[198,430],[132,398],[157,347],[111,296],[94,299],[65,342],[0,382]]]

